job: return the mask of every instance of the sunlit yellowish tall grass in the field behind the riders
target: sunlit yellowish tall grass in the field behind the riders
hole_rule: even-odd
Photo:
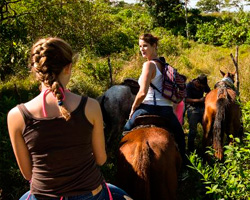
[[[178,40],[178,38],[176,38]],[[223,48],[212,45],[197,44],[189,41],[189,48],[178,47],[168,54],[165,53],[165,46],[159,47],[159,56],[164,56],[166,61],[187,76],[188,81],[204,73],[208,76],[208,84],[211,89],[215,83],[222,79],[220,70],[234,72],[235,66],[231,59],[232,53],[235,57],[236,47]],[[161,45],[161,43],[160,43]],[[136,48],[135,48],[136,49]],[[178,53],[176,53],[178,51]],[[240,81],[240,98],[242,102],[249,101],[250,92],[250,45],[239,46],[238,65]],[[142,63],[145,60],[140,56],[139,50],[128,61],[124,61],[120,71],[114,74],[115,82],[119,83],[126,77],[138,78],[141,72]]]

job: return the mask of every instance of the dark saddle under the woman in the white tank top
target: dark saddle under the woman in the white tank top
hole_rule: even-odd
[[[133,129],[137,129],[140,127],[152,127],[152,126],[157,126],[157,127],[161,127],[164,129],[167,129],[169,119],[165,118],[165,117],[161,117],[158,115],[141,115],[136,117],[135,122],[134,122],[134,127]]]

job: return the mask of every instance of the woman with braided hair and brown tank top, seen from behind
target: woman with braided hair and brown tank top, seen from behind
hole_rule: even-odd
[[[8,113],[14,154],[30,181],[20,199],[129,199],[105,183],[98,167],[107,159],[98,102],[66,89],[72,56],[60,38],[40,39],[31,49],[41,93]]]

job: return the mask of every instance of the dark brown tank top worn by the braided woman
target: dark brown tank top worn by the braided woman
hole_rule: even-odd
[[[36,197],[86,194],[103,182],[93,156],[86,102],[82,97],[67,122],[62,117],[36,118],[18,105],[26,124],[23,137],[32,159],[31,193]]]

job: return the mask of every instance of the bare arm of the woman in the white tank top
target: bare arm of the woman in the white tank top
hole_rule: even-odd
[[[131,108],[131,112],[129,114],[129,118],[132,117],[135,109],[142,103],[145,99],[148,88],[150,85],[151,80],[154,78],[156,73],[155,65],[150,61],[147,61],[143,64],[142,73],[141,73],[141,82],[140,82],[140,89],[135,97],[134,103]]]

